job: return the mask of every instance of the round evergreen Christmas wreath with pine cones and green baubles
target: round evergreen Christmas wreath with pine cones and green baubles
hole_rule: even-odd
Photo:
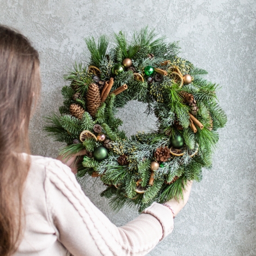
[[[87,38],[88,66],[74,64],[64,78],[63,106],[46,118],[45,131],[65,142],[68,156],[86,149],[78,177],[99,177],[101,196],[114,209],[125,204],[142,211],[153,202],[182,196],[187,180],[202,179],[210,168],[217,129],[227,116],[218,105],[218,85],[206,81],[205,70],[178,57],[176,42],[167,43],[147,27]],[[118,109],[131,100],[147,103],[157,129],[127,138],[118,127]]]

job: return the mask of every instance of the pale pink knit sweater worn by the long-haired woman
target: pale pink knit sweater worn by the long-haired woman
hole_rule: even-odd
[[[172,212],[154,203],[117,227],[85,196],[69,167],[31,156],[23,194],[26,224],[15,255],[145,255],[173,230]]]

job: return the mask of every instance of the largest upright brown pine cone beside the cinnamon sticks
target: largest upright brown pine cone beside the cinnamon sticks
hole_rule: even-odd
[[[87,91],[87,111],[92,117],[95,117],[97,109],[101,104],[100,90],[97,84],[91,83]]]

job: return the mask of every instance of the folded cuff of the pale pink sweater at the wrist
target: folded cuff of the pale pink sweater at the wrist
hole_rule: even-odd
[[[163,236],[161,240],[164,239],[164,237],[166,237],[173,231],[173,215],[170,209],[168,209],[166,206],[158,203],[153,203],[151,206],[146,208],[142,213],[151,214],[155,218],[157,218],[157,220],[159,220],[163,229]]]

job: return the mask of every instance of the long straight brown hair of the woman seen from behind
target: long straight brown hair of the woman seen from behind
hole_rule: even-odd
[[[28,174],[28,125],[39,95],[38,52],[28,39],[0,25],[0,255],[13,254],[22,237],[22,192]]]

